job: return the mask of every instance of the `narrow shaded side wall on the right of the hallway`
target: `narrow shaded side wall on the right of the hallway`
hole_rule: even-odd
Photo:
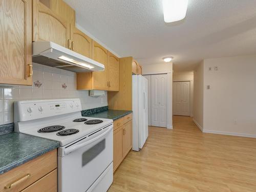
[[[203,91],[204,91],[204,62],[199,63],[194,70],[194,122],[203,131]]]

